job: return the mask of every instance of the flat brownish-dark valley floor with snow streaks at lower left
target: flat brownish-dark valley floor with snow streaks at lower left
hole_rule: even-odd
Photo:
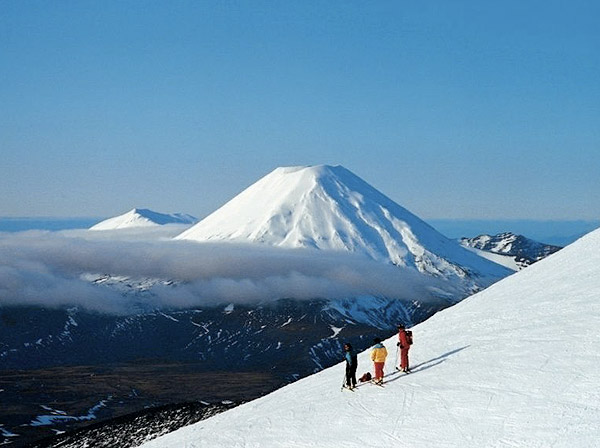
[[[157,361],[0,371],[0,445],[25,446],[148,407],[248,401],[281,384],[268,373]]]

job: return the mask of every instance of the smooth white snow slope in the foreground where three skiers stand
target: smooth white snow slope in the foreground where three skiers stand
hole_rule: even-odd
[[[596,230],[416,326],[413,373],[387,340],[384,388],[339,364],[144,447],[597,447],[599,323]]]

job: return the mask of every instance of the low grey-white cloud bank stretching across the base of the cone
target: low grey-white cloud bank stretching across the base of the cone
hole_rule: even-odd
[[[160,279],[148,292],[94,275]],[[0,233],[0,306],[80,306],[128,314],[280,298],[432,299],[433,278],[347,253],[189,241],[119,241],[90,232]]]

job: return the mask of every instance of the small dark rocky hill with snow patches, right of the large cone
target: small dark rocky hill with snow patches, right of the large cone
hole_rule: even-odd
[[[493,236],[479,235],[475,238],[461,238],[459,241],[464,247],[508,256],[513,260],[517,270],[523,269],[561,249],[559,246],[539,243],[511,232],[499,233]],[[492,260],[496,261],[493,258]],[[501,260],[496,262],[504,264]]]

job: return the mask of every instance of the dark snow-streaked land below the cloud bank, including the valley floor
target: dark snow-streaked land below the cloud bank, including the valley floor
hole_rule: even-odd
[[[396,323],[446,306],[373,300],[365,309],[280,300],[135,316],[2,308],[0,444],[157,406],[251,400],[339,362],[346,341],[366,349]]]

